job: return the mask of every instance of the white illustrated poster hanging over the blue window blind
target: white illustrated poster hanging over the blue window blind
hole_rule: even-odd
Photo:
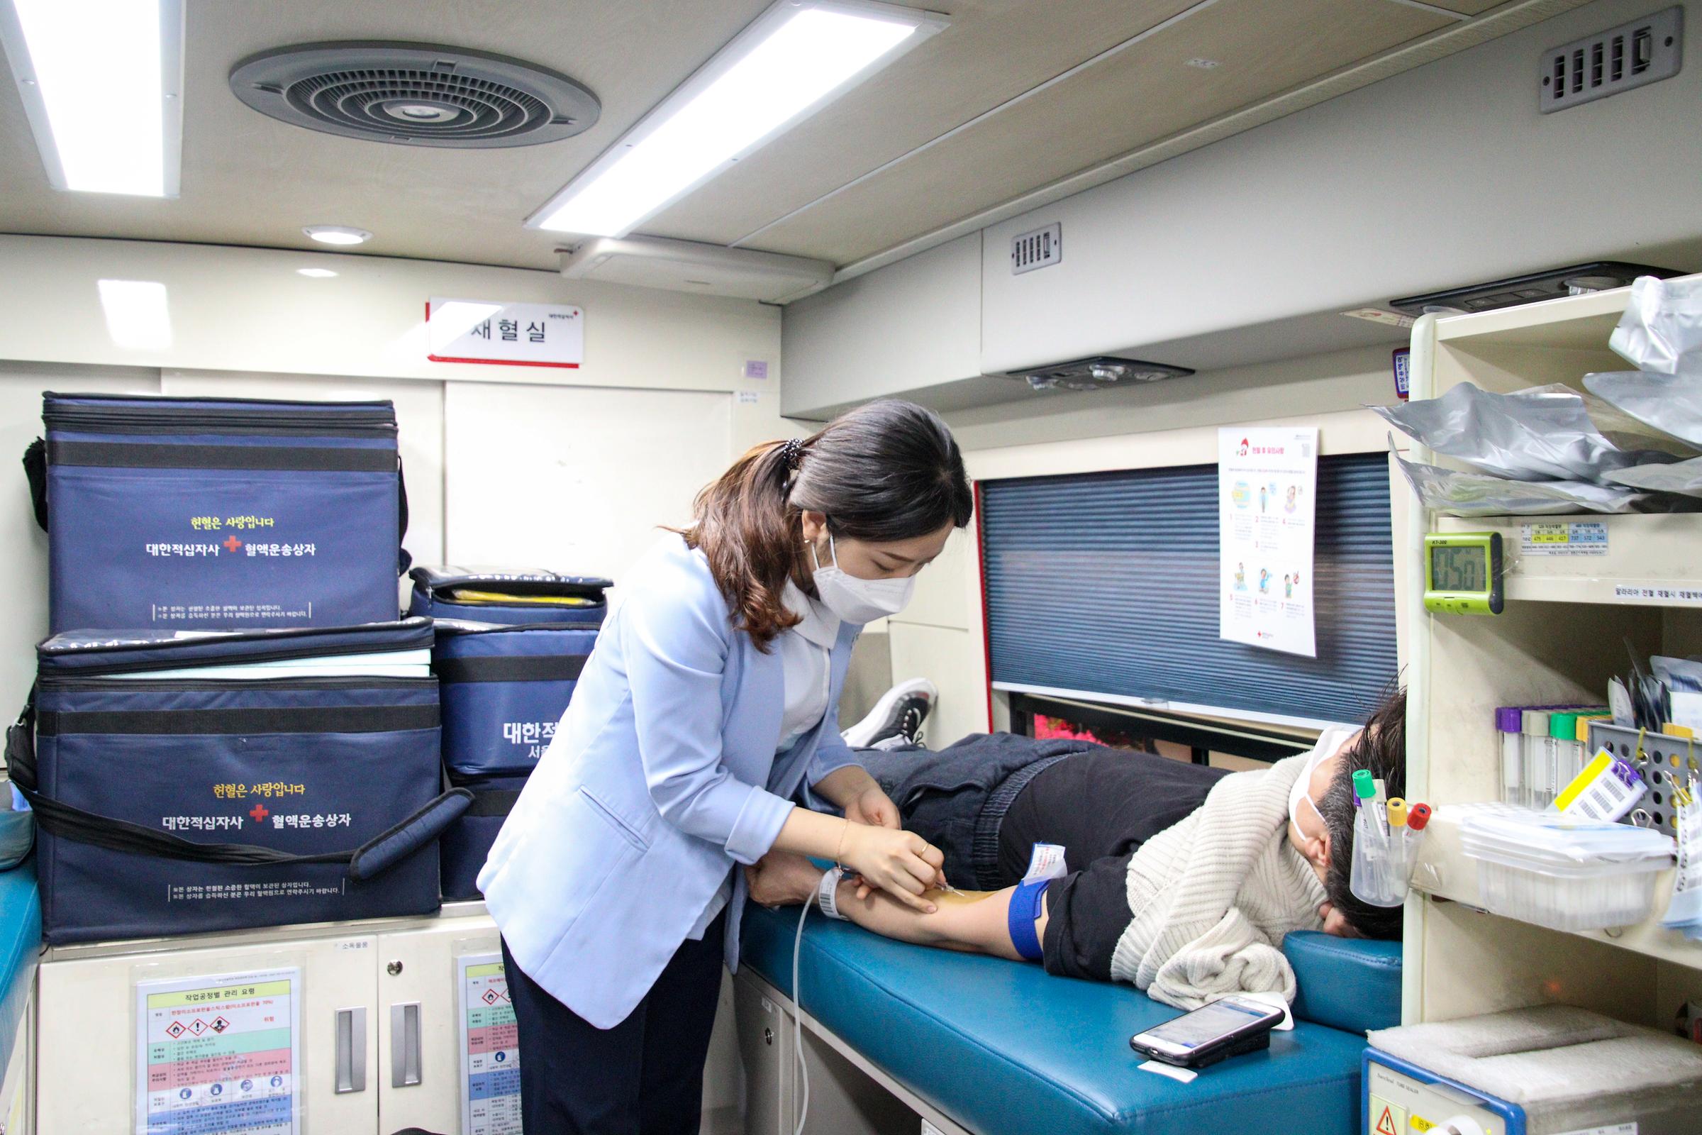
[[[1317,657],[1317,427],[1217,431],[1219,638]]]

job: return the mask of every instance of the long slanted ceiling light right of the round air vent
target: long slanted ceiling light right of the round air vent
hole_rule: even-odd
[[[781,0],[528,218],[625,237],[945,26],[854,0]]]

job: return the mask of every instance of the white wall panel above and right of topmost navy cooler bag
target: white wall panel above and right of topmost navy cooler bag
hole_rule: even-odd
[[[162,393],[186,398],[301,398],[397,403],[397,441],[408,487],[408,533],[415,563],[443,563],[443,385],[320,374],[165,371]]]

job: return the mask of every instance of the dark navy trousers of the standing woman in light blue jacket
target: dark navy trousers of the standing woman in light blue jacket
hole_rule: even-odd
[[[609,1029],[545,992],[502,943],[526,1135],[696,1135],[725,924],[722,912],[703,941],[681,943],[638,1007]]]

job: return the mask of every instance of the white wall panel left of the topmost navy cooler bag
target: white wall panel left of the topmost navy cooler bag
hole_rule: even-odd
[[[24,448],[43,436],[41,393],[160,393],[160,373],[97,366],[0,361],[0,594],[10,618],[0,619],[0,713],[9,718],[36,681],[36,643],[48,635],[48,534],[36,528],[24,470]]]

